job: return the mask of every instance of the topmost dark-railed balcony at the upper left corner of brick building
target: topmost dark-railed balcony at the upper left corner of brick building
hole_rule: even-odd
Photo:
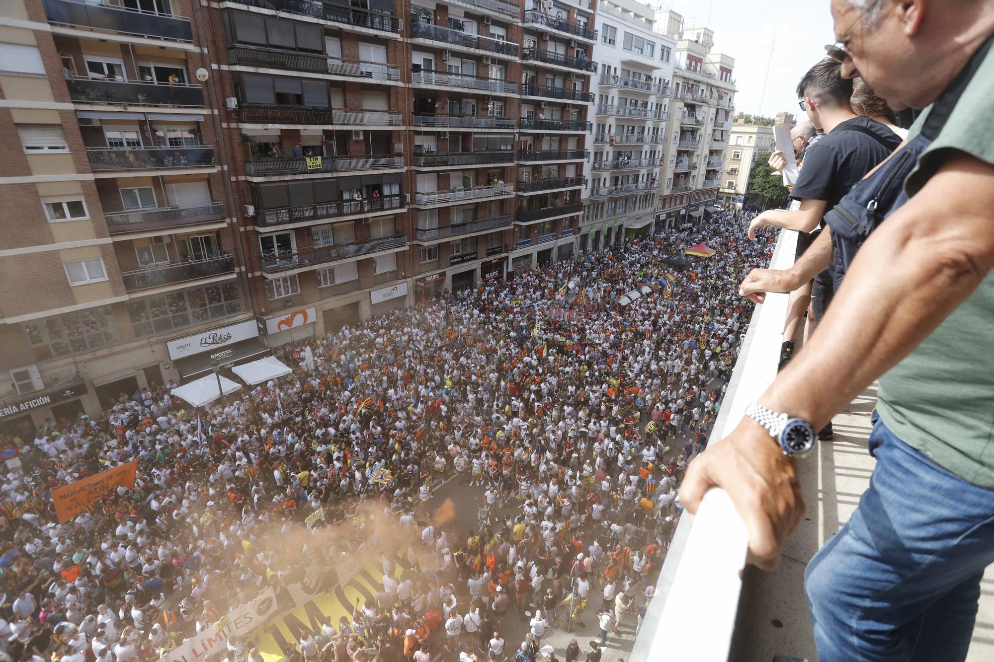
[[[135,37],[193,42],[190,19],[172,14],[128,9],[102,2],[44,0],[49,23]]]

